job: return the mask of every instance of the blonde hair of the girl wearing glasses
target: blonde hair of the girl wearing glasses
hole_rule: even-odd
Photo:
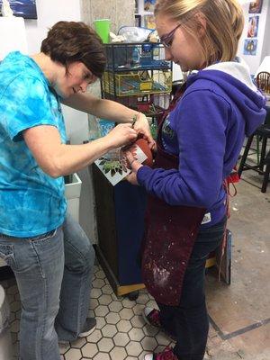
[[[206,21],[200,39],[205,66],[216,61],[230,61],[236,57],[238,40],[244,27],[243,11],[238,0],[157,0],[155,15],[166,15],[183,23],[194,39],[200,16]]]

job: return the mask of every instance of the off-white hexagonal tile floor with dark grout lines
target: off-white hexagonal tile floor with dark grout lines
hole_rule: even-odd
[[[20,296],[14,279],[6,282],[5,289],[11,309],[13,347],[16,349],[13,360],[18,360]],[[172,345],[160,329],[145,324],[141,312],[146,304],[157,308],[145,289],[139,291],[136,302],[126,297],[117,298],[101,266],[94,266],[88,314],[95,317],[96,329],[87,338],[59,345],[61,360],[144,360],[149,352]]]

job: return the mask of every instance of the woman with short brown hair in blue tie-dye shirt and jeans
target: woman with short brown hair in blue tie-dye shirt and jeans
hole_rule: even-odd
[[[0,65],[0,257],[20,292],[22,360],[60,360],[58,340],[95,329],[87,317],[94,249],[67,214],[63,175],[139,132],[152,141],[144,115],[86,94],[104,67],[101,39],[75,22],[56,23],[40,53],[11,52]],[[101,139],[68,145],[60,103],[123,123]]]

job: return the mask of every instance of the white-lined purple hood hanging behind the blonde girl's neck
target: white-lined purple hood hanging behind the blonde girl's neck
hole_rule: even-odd
[[[220,62],[192,74],[187,85],[196,80],[209,80],[220,86],[223,93],[235,104],[245,120],[245,134],[251,135],[266,118],[266,97],[257,89],[249,75],[247,64],[237,58],[236,61]]]

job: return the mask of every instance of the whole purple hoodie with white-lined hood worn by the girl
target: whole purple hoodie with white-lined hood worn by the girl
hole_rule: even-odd
[[[142,166],[139,184],[170,205],[205,207],[204,227],[225,215],[223,180],[238,161],[246,136],[266,117],[265,98],[243,62],[223,62],[188,77],[187,89],[162,129],[179,168]]]

